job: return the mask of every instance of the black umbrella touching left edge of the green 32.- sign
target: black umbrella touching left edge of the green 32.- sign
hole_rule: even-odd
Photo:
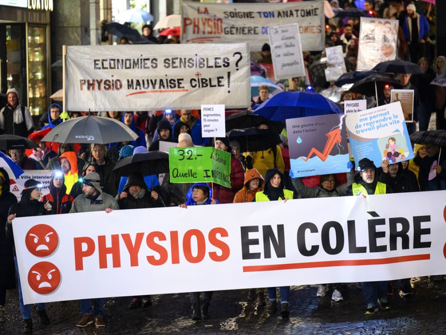
[[[169,154],[162,151],[135,153],[133,156],[123,158],[113,168],[116,176],[128,176],[132,172],[142,175],[152,175],[169,172]]]

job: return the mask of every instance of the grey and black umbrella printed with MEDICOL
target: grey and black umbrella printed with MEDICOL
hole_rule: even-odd
[[[137,138],[133,130],[122,122],[88,115],[60,123],[45,135],[42,142],[106,144]]]

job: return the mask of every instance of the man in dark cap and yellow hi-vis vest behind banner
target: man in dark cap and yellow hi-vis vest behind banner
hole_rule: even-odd
[[[392,193],[389,186],[378,182],[376,177],[377,167],[368,158],[363,158],[358,163],[355,173],[355,183],[347,188],[347,195],[386,194]],[[378,306],[381,309],[390,309],[387,301],[387,280],[362,282],[362,293],[367,302],[366,315],[375,314]]]

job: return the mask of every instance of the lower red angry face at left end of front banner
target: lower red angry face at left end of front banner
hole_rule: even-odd
[[[50,294],[60,285],[60,271],[50,262],[34,264],[28,272],[28,283],[38,294]]]

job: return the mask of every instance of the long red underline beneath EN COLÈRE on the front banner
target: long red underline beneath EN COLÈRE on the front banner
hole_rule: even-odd
[[[331,260],[331,261],[325,261],[325,262],[290,263],[290,264],[273,264],[273,265],[250,265],[250,266],[243,266],[243,272],[309,269],[311,267],[382,265],[382,264],[402,263],[402,262],[411,262],[411,261],[416,261],[416,260],[428,260],[428,259],[431,259],[430,254],[389,257],[389,258],[381,258],[381,259],[350,259],[350,260]]]

